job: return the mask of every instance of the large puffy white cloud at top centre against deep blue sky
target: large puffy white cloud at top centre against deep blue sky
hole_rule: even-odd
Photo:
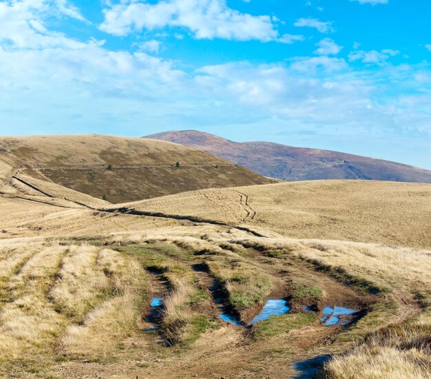
[[[226,0],[122,1],[104,13],[101,30],[117,36],[170,26],[187,28],[196,39],[293,41],[280,38],[270,16],[241,13]]]

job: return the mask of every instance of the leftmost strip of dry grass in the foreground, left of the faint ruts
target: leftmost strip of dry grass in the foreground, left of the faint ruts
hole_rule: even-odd
[[[17,361],[24,366],[48,364],[55,338],[66,322],[46,297],[64,252],[58,245],[45,247],[10,278],[8,303],[0,312],[3,369]],[[40,354],[44,358],[38,362]]]

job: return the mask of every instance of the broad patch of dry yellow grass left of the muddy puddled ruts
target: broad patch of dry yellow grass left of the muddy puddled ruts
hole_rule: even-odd
[[[147,278],[134,259],[36,238],[0,241],[0,259],[0,376],[110,360],[138,330]]]

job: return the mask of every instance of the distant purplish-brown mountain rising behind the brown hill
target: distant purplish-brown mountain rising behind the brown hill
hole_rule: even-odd
[[[196,130],[158,133],[145,138],[196,147],[261,175],[285,181],[364,179],[431,183],[431,171],[428,170],[329,150],[271,142],[238,143]]]

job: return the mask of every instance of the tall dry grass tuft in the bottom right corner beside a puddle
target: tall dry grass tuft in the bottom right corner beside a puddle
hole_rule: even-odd
[[[431,327],[392,326],[326,365],[333,379],[431,378]]]

